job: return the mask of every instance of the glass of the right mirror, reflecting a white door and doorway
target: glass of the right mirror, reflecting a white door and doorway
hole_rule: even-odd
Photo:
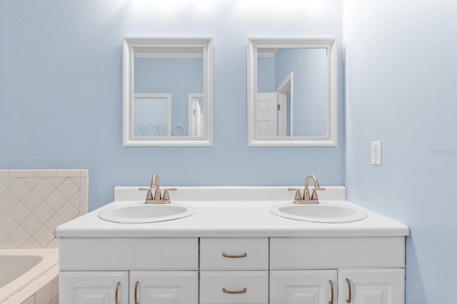
[[[326,71],[326,49],[258,49],[257,136],[326,136]]]

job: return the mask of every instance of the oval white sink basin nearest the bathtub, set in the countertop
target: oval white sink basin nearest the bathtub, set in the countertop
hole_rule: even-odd
[[[155,223],[185,218],[195,213],[195,208],[182,204],[133,204],[116,206],[100,211],[102,220],[114,223]]]

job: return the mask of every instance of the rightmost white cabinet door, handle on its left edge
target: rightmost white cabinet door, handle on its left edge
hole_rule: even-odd
[[[338,270],[338,303],[403,304],[405,270]]]

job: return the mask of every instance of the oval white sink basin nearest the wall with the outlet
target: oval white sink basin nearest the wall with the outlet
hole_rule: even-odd
[[[282,218],[316,223],[351,223],[361,221],[368,216],[368,213],[362,209],[333,203],[312,205],[288,203],[272,206],[270,212]]]

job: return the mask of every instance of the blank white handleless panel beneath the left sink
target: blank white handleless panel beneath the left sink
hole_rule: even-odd
[[[198,270],[198,238],[61,238],[61,270]]]

